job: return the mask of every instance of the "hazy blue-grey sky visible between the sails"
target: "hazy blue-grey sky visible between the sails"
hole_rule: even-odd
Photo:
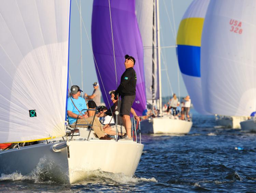
[[[150,1],[150,0],[148,0]],[[183,14],[188,8],[192,0],[173,0],[173,13],[175,19],[176,34],[179,28],[180,21]],[[77,4],[80,6],[79,0],[71,1],[71,23],[70,23],[70,56],[69,56],[69,72],[73,85],[82,87],[81,74],[81,44],[80,44],[80,15]],[[89,41],[91,43],[91,14],[93,9],[93,0],[82,0],[82,18],[88,33]],[[168,18],[168,14],[169,18]],[[159,0],[159,14],[160,14],[160,39],[161,47],[174,46],[174,25],[172,17],[171,0]],[[170,24],[171,22],[171,24]],[[170,86],[166,73],[168,73],[172,90],[177,95],[178,93],[178,79],[177,79],[177,58],[175,48],[162,48],[163,57],[161,58],[162,69],[162,96],[170,96]],[[83,60],[83,91],[91,94],[93,92],[93,83],[98,81],[92,51],[87,39],[85,29],[82,27],[82,60]],[[166,71],[166,66],[167,71]],[[180,94],[187,95],[187,90],[184,85],[181,72],[180,76]],[[69,81],[69,88],[71,82]]]

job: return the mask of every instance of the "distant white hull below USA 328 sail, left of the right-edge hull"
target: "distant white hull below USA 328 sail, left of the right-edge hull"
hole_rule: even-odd
[[[244,116],[224,116],[216,119],[216,125],[223,126],[224,128],[241,129],[240,122],[246,119],[247,117]]]

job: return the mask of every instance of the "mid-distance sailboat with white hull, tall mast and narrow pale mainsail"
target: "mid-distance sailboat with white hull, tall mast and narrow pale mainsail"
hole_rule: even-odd
[[[144,48],[146,98],[157,105],[160,116],[141,121],[142,133],[189,133],[192,121],[162,113],[159,1],[136,1],[137,20]]]

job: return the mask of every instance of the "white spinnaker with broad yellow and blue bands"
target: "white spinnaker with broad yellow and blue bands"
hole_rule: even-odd
[[[177,34],[177,57],[188,94],[194,108],[201,114],[209,114],[203,105],[200,48],[204,17],[210,0],[194,0],[185,12]]]

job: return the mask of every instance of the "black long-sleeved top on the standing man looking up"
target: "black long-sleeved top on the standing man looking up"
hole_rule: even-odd
[[[115,91],[115,95],[132,96],[136,94],[137,76],[135,70],[130,67],[121,76],[121,82]]]

